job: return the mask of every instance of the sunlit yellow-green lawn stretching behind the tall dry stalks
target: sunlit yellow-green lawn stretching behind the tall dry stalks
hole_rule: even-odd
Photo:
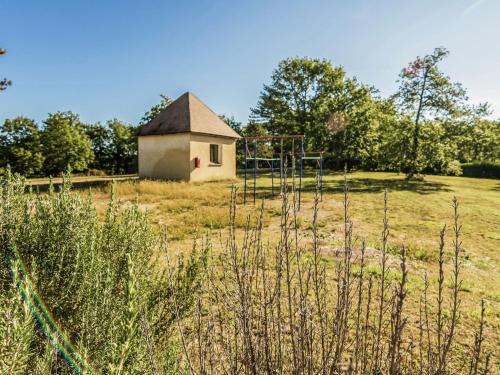
[[[320,205],[321,251],[335,260],[336,249],[342,240],[343,174],[329,173],[324,177],[324,196]],[[356,172],[347,175],[350,192],[350,217],[354,223],[354,237],[359,245],[366,241],[370,272],[378,272],[378,246],[382,231],[383,193],[389,193],[390,264],[397,268],[397,254],[402,245],[408,248],[410,259],[410,289],[422,286],[427,273],[431,284],[437,278],[439,231],[447,225],[447,254],[452,247],[452,199],[460,203],[462,227],[462,285],[463,317],[475,323],[479,316],[479,301],[487,302],[490,344],[500,339],[500,181],[460,177],[427,176],[424,181],[407,182],[394,173]],[[238,201],[243,202],[242,180],[209,183],[179,183],[162,181],[118,181],[115,191],[119,200],[138,201],[147,209],[152,221],[165,225],[170,238],[170,249],[175,253],[192,246],[194,233],[212,230],[224,234],[228,225],[230,187],[238,187]],[[279,199],[270,197],[271,179],[260,176],[257,183],[258,201],[264,199],[265,240],[274,244],[279,239]],[[302,194],[302,209],[298,218],[300,241],[310,241],[314,177],[306,176]],[[94,187],[93,201],[104,213],[110,197],[110,187]],[[237,225],[244,226],[246,215],[256,216],[251,203],[243,206],[237,215]],[[266,229],[265,228],[265,229]],[[215,232],[215,233],[214,233]],[[222,237],[223,238],[223,237]],[[220,246],[214,241],[214,251]],[[445,270],[450,271],[448,257]],[[449,275],[449,273],[448,273]],[[416,299],[415,299],[416,296]],[[418,293],[413,295],[417,308]],[[465,337],[464,339],[468,337]]]

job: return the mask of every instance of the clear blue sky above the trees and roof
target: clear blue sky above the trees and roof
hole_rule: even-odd
[[[0,0],[0,121],[72,110],[136,123],[192,91],[246,122],[286,57],[327,58],[390,95],[445,46],[443,70],[500,117],[500,0]]]

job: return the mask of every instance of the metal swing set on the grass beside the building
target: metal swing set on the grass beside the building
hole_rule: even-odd
[[[323,152],[305,152],[304,150],[304,135],[277,135],[277,136],[263,136],[263,137],[245,137],[245,162],[244,162],[244,203],[247,203],[247,190],[248,179],[253,178],[253,203],[257,200],[257,170],[259,170],[259,162],[266,162],[271,172],[271,196],[275,196],[275,177],[274,173],[278,167],[279,171],[279,190],[280,194],[283,193],[285,173],[288,174],[288,169],[285,168],[291,160],[292,164],[292,178],[295,185],[295,166],[296,156],[299,161],[299,187],[298,187],[298,209],[300,210],[301,193],[302,193],[302,177],[304,171],[304,162],[308,160],[315,160],[319,168],[319,189],[320,197],[323,200]],[[288,143],[288,150],[286,149],[285,141]],[[296,151],[296,142],[299,142],[299,150]],[[271,155],[259,156],[258,145],[259,143],[271,143]],[[252,145],[252,151],[250,151]],[[275,152],[279,145],[279,152]],[[289,160],[290,158],[290,160]],[[249,174],[252,177],[249,177]],[[288,175],[286,176],[288,177]]]

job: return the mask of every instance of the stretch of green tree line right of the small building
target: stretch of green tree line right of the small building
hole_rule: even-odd
[[[460,174],[461,163],[500,157],[500,121],[488,104],[439,65],[444,48],[403,68],[399,88],[383,98],[328,60],[281,61],[264,85],[243,133],[304,134],[306,151],[323,151],[329,167]]]

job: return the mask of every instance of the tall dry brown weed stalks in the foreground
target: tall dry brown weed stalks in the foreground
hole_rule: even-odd
[[[321,246],[318,190],[313,200],[310,241],[303,243],[296,224],[295,191],[293,185],[291,190],[285,185],[281,233],[278,243],[272,245],[263,229],[263,206],[257,210],[254,224],[249,213],[247,225],[237,232],[234,218],[240,208],[233,188],[227,241],[211,263],[201,288],[199,313],[196,319],[192,317],[193,325],[206,330],[211,327],[213,334],[200,334],[198,328],[197,344],[189,344],[194,341],[187,339],[187,350],[196,357],[195,373],[477,374],[490,365],[481,350],[484,313],[471,350],[472,360],[467,362],[456,347],[461,283],[457,201],[453,201],[450,307],[447,309],[444,303],[448,275],[444,270],[443,229],[437,303],[429,297],[426,277],[420,313],[412,318],[407,301],[411,277],[407,249],[401,246],[399,268],[392,266],[396,259],[388,252],[388,193],[383,196],[378,268],[368,273],[367,263],[373,261],[367,259],[365,242],[354,237],[347,185],[346,180],[342,247],[333,252],[333,262],[324,254],[327,248]]]

